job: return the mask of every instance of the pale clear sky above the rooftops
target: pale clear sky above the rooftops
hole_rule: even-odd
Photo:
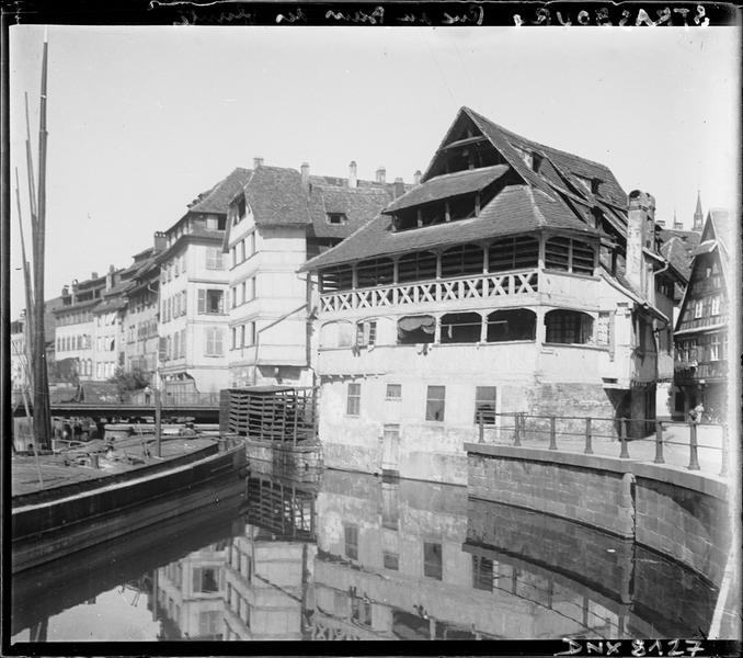
[[[10,29],[11,175],[28,249],[44,27]],[[49,26],[46,298],[124,268],[236,167],[412,182],[467,105],[608,166],[690,228],[736,207],[734,27]],[[36,159],[36,156],[34,156]],[[37,171],[37,164],[35,164]],[[14,185],[14,183],[13,183]],[[23,308],[12,191],[11,314]]]

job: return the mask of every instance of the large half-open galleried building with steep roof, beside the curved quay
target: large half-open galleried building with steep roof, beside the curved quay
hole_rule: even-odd
[[[462,107],[420,185],[304,266],[325,465],[465,484],[503,412],[644,433],[673,350],[656,234],[651,195]]]

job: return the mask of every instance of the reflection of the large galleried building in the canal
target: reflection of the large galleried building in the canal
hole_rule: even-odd
[[[637,612],[631,543],[469,508],[464,488],[325,472],[312,637],[672,636]]]

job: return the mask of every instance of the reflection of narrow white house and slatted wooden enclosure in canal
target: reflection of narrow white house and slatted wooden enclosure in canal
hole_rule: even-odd
[[[227,549],[226,639],[302,639],[315,497],[311,485],[249,478],[250,525]]]

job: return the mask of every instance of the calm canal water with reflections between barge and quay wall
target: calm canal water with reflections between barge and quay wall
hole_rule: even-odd
[[[12,581],[13,642],[700,637],[717,591],[639,545],[467,489],[325,470]]]

